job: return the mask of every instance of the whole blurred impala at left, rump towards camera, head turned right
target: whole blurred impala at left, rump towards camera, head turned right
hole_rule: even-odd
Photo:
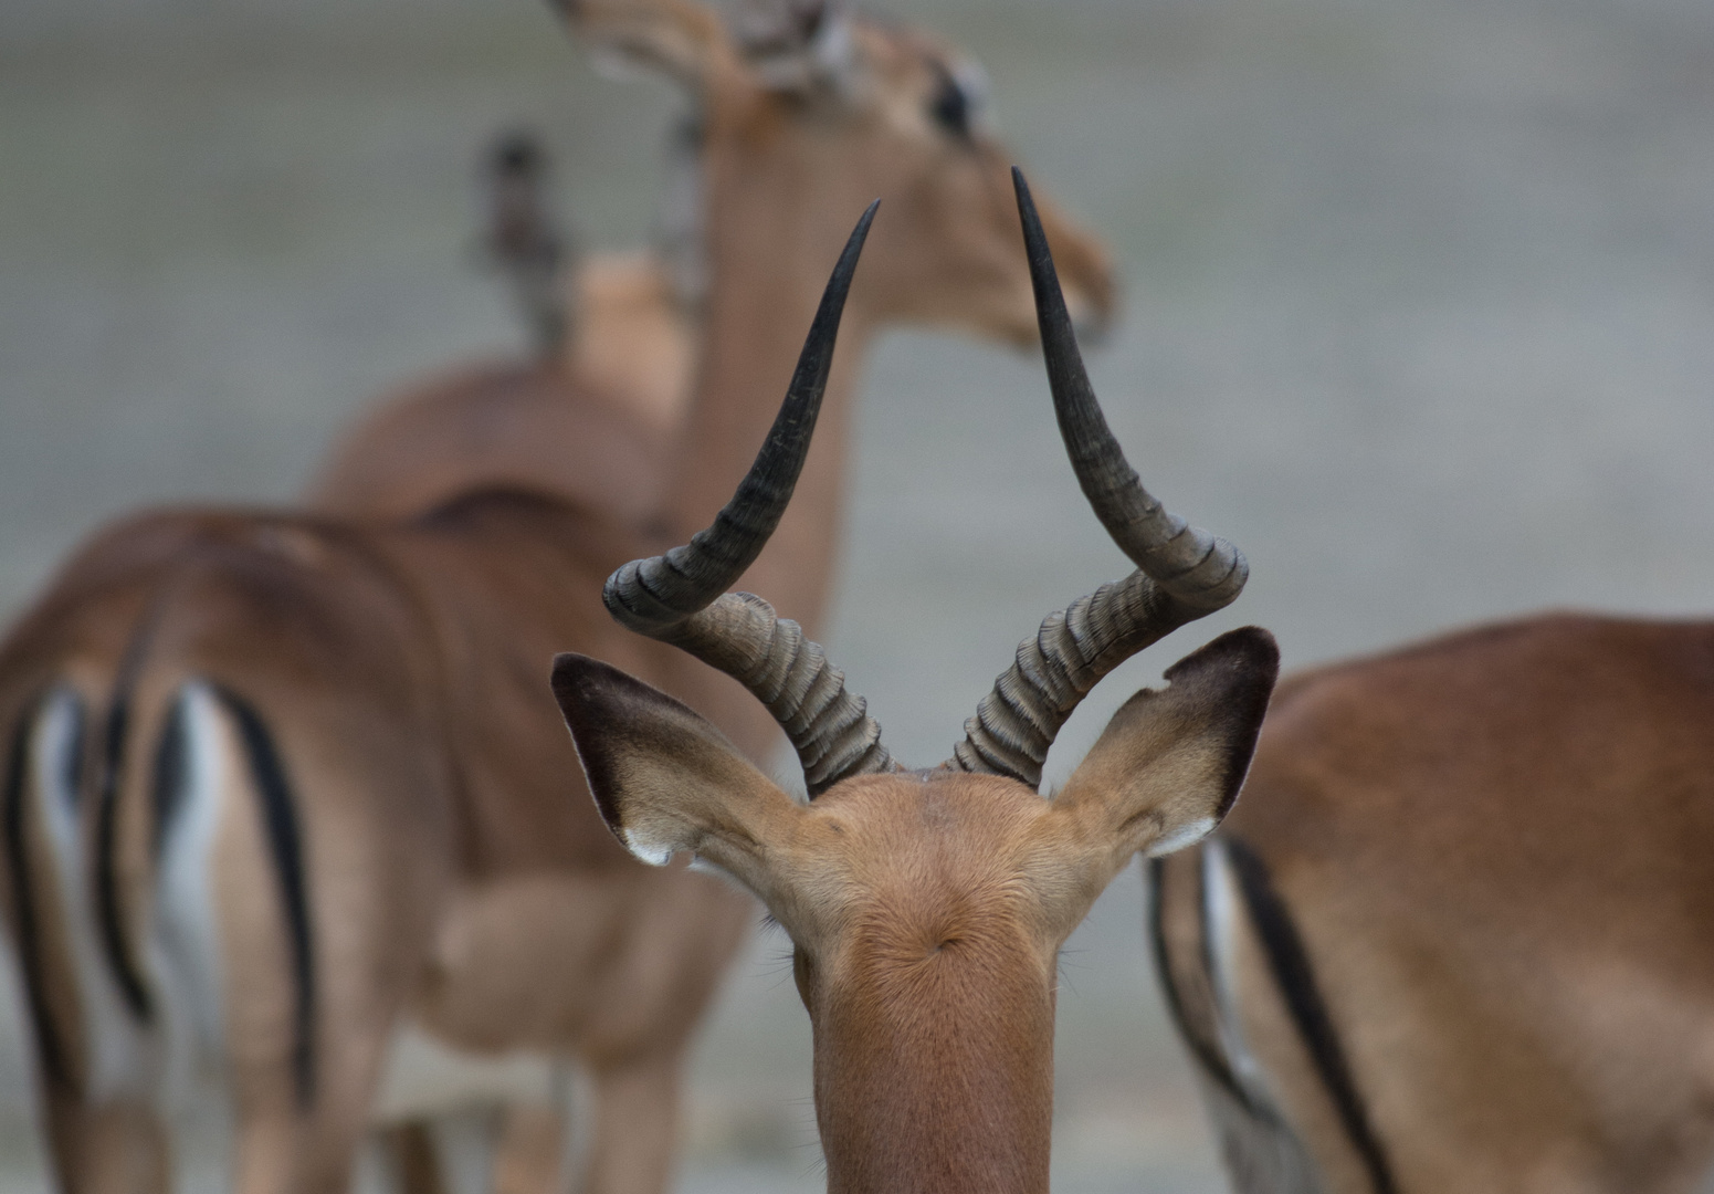
[[[782,113],[802,98],[740,86],[749,67],[720,26],[694,27],[703,57],[674,62],[706,65],[708,144],[723,148],[708,190],[732,204],[711,223],[735,232],[711,240],[696,449],[660,503],[668,530],[706,522],[763,434],[804,278],[746,264],[819,250],[823,202],[859,173],[828,153],[845,122],[893,134],[860,173],[907,211],[850,297],[859,343],[886,319],[950,311],[1022,340],[1030,304],[1028,271],[999,249],[1016,225],[992,201],[998,151],[938,122],[943,63],[915,34],[854,27],[848,65],[881,110],[828,94],[824,120],[794,125]],[[650,29],[684,50],[670,24],[627,45],[646,53]],[[764,168],[795,178],[800,202],[758,213],[720,182]],[[826,388],[835,436],[746,573],[811,616],[852,357],[799,365],[797,388]],[[746,750],[771,746],[771,719],[730,700],[730,681],[600,609],[600,578],[658,544],[499,485],[399,522],[165,511],[75,554],[0,645],[7,914],[69,1189],[165,1185],[171,1108],[197,1069],[218,1070],[231,1103],[237,1189],[343,1187],[406,1021],[454,1048],[579,1058],[596,1096],[584,1189],[662,1187],[684,1046],[752,904],[636,866],[591,806],[564,799],[572,748],[538,686],[548,652],[578,643],[716,712]]]

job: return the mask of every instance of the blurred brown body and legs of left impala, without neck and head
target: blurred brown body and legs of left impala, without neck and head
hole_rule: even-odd
[[[343,1187],[406,1014],[588,1060],[614,1105],[591,1184],[658,1185],[747,909],[636,868],[536,775],[572,765],[550,643],[662,672],[598,606],[632,542],[490,492],[398,527],[163,513],[72,561],[0,647],[7,904],[69,1189],[163,1189],[199,1067],[237,1189]]]

